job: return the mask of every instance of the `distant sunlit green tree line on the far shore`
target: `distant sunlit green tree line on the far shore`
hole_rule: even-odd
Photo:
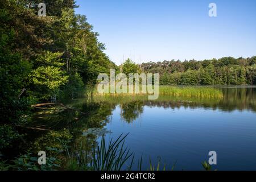
[[[171,60],[139,65],[143,72],[159,73],[161,85],[253,85],[256,84],[256,56],[235,59]]]

